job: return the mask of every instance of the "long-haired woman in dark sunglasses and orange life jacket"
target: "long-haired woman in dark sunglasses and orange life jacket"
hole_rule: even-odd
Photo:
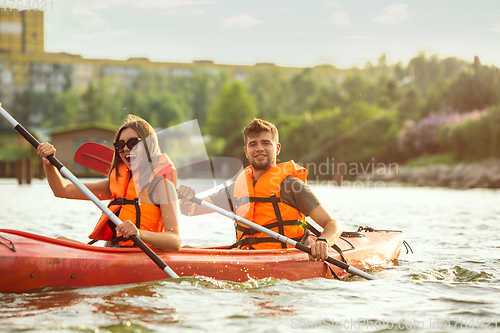
[[[167,155],[161,154],[153,128],[144,119],[129,115],[113,145],[109,178],[84,185],[100,200],[112,199],[109,208],[123,223],[116,227],[103,214],[89,237],[107,240],[106,246],[128,247],[133,243],[127,239],[136,235],[152,246],[179,250],[176,172]],[[56,197],[87,199],[74,184],[67,184],[47,160],[47,156],[56,154],[54,146],[41,143],[37,152],[44,160],[47,180]]]

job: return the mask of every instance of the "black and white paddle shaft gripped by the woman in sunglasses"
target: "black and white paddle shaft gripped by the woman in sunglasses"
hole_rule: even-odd
[[[2,116],[14,127],[16,131],[21,134],[26,141],[28,141],[33,147],[38,148],[38,145],[40,144],[37,139],[31,135],[21,124],[19,124],[7,111],[4,110],[0,106],[0,113]],[[69,179],[80,191],[85,194],[87,198],[89,198],[99,209],[106,214],[109,219],[116,224],[117,226],[122,224],[122,221],[108,208],[106,205],[104,205],[95,195],[92,193],[85,185],[83,185],[82,182],[78,178],[76,178],[71,171],[69,171],[59,160],[53,156],[50,155],[47,157],[47,159],[52,163],[67,179]],[[161,260],[160,257],[156,255],[139,237],[137,236],[132,236],[130,239],[134,242],[136,246],[138,246],[144,253],[146,253],[151,260],[153,260],[158,267],[164,271],[169,277],[171,278],[178,278],[179,276],[170,268],[168,267],[167,264]]]

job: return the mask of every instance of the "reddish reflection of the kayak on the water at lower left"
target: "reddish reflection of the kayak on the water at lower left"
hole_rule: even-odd
[[[0,322],[25,322],[26,317],[47,314],[73,317],[74,313],[82,313],[83,318],[91,315],[104,316],[120,323],[137,321],[160,325],[177,322],[179,319],[175,309],[158,301],[162,295],[155,289],[156,286],[152,283],[107,288],[46,289],[19,294],[0,293],[0,303],[8,304],[0,312]],[[86,312],[88,313],[85,315]],[[85,321],[82,320],[82,323]]]

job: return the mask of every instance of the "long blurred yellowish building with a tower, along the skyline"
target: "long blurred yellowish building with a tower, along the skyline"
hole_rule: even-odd
[[[227,71],[237,80],[252,72],[275,66],[259,63],[252,66],[221,65],[211,60],[192,63],[152,62],[147,58],[128,60],[84,59],[80,55],[44,52],[44,12],[0,10],[0,101],[8,104],[14,94],[26,90],[61,93],[68,88],[86,89],[91,82],[105,77],[116,78],[127,86],[141,71],[166,76],[190,76],[197,71]],[[332,70],[337,70],[332,66]],[[287,75],[302,68],[281,67]],[[341,71],[341,70],[339,70]]]

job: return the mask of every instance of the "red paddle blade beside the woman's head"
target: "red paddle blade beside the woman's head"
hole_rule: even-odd
[[[111,169],[113,155],[113,149],[100,143],[87,142],[76,151],[75,162],[107,176]]]

